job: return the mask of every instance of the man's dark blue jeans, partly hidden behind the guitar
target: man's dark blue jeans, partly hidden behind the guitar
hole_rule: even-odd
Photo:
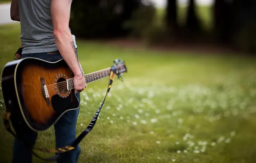
[[[49,62],[55,62],[62,59],[59,52],[48,54],[48,53],[34,53],[34,54],[22,54],[24,57],[36,57]],[[76,94],[80,102],[80,94]],[[71,110],[66,112],[54,125],[55,128],[55,139],[56,139],[56,148],[64,147],[66,145],[71,145],[76,139],[76,122],[79,114],[79,109]],[[21,135],[24,136],[30,145],[35,144],[37,139],[37,133],[32,130],[27,130],[22,132]],[[77,163],[81,148],[79,145],[75,150],[72,150],[68,153],[64,153],[60,160],[57,163]],[[21,142],[17,139],[14,140],[13,144],[13,155],[12,163],[31,163],[32,162],[32,153],[26,147],[24,147]]]

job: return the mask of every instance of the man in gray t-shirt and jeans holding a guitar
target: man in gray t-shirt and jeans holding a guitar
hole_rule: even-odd
[[[84,72],[78,60],[74,40],[69,29],[71,0],[12,0],[11,18],[20,21],[22,56],[37,57],[50,62],[64,59],[74,73],[74,89],[80,100],[86,88]],[[56,148],[71,145],[76,139],[79,109],[66,112],[55,124]],[[22,129],[23,139],[34,145],[37,133]],[[58,163],[76,163],[80,147],[66,153]],[[31,163],[31,151],[15,139],[12,163]]]

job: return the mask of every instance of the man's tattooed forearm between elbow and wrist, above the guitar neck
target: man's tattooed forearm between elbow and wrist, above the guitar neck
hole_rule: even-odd
[[[83,76],[84,72],[76,54],[76,48],[70,31],[54,31],[55,43],[66,61],[67,65],[76,76]]]

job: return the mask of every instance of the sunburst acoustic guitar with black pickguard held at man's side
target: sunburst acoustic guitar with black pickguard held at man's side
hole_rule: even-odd
[[[116,59],[114,63],[110,68],[85,74],[86,83],[109,76],[113,68],[119,76],[127,72],[122,60]],[[1,74],[1,84],[6,110],[12,112],[12,124],[16,128],[27,125],[35,132],[42,132],[65,112],[78,109],[73,77],[63,59],[48,62],[26,57],[7,63]]]

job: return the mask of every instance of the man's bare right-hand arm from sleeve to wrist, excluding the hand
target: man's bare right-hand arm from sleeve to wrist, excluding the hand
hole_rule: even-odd
[[[84,76],[69,30],[71,0],[52,0],[51,14],[55,43],[67,65],[78,78]]]

